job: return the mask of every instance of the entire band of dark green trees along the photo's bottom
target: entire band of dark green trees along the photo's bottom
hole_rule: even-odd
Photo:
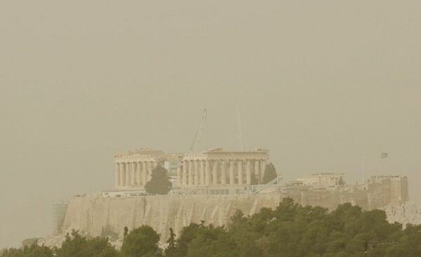
[[[107,238],[86,239],[79,232],[67,235],[60,248],[36,243],[4,249],[1,257],[138,257],[138,256],[288,256],[349,257],[421,256],[421,225],[390,224],[384,211],[362,211],[342,204],[335,211],[320,206],[300,206],[286,198],[276,209],[262,208],[253,216],[236,211],[228,227],[192,223],[178,237],[171,230],[166,249],[159,248],[159,234],[144,225],[125,231],[119,251]],[[394,244],[370,246],[376,242]]]

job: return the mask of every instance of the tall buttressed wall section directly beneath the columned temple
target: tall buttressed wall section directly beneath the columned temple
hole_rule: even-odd
[[[74,197],[69,202],[63,230],[80,230],[93,237],[107,228],[123,237],[123,228],[151,225],[168,237],[190,223],[226,225],[239,209],[252,215],[263,206],[276,207],[281,195],[164,195],[145,197]]]

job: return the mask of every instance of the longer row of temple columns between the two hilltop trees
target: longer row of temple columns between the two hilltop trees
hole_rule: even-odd
[[[252,176],[262,182],[266,162],[248,160],[185,160],[178,169],[178,185],[250,185]]]

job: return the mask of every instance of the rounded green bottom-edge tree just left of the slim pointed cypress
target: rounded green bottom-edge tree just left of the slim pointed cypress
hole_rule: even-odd
[[[135,228],[124,238],[121,254],[127,257],[161,256],[159,234],[148,225]]]

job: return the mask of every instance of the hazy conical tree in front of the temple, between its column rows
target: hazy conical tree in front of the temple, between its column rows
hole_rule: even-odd
[[[152,178],[145,185],[145,190],[152,195],[166,195],[170,192],[173,184],[168,177],[167,170],[161,165],[152,170]]]

